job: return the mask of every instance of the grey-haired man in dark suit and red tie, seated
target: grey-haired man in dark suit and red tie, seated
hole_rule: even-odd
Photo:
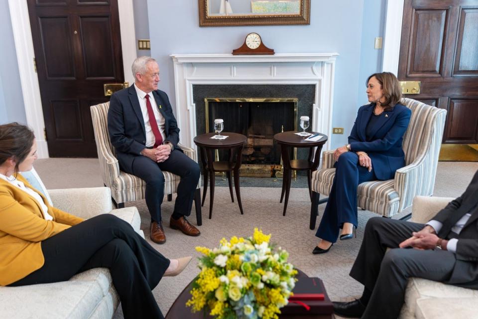
[[[166,242],[161,221],[163,170],[181,176],[169,226],[199,236],[199,230],[185,216],[191,213],[200,169],[177,147],[179,128],[168,96],[158,90],[159,66],[153,58],[141,56],[134,60],[131,70],[134,84],[113,94],[108,111],[108,130],[119,168],[146,182],[152,241]]]

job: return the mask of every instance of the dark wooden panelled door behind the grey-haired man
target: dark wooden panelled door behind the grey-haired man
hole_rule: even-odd
[[[90,106],[124,81],[118,1],[28,0],[50,157],[96,157]]]

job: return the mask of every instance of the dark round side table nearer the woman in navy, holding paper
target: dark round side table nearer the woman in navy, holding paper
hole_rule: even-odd
[[[297,131],[288,131],[277,133],[274,135],[274,140],[280,145],[280,152],[282,155],[282,164],[284,165],[284,176],[282,178],[282,192],[280,194],[280,202],[284,199],[285,193],[285,202],[284,202],[284,211],[282,213],[285,216],[287,210],[287,203],[289,202],[289,192],[290,192],[290,181],[292,170],[306,170],[307,171],[307,182],[309,184],[309,197],[312,199],[312,189],[310,186],[312,172],[317,169],[320,162],[320,152],[322,151],[322,146],[327,142],[327,135],[317,132],[310,132],[312,135],[320,134],[323,137],[315,142],[305,141],[307,137],[298,136],[295,133]],[[312,160],[312,155],[314,154],[314,148],[317,147],[315,151],[314,160]],[[289,156],[289,148],[309,148],[309,158],[307,160],[291,160]]]

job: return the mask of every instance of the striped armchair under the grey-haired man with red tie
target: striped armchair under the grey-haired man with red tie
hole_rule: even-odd
[[[140,200],[144,198],[146,183],[141,178],[125,173],[119,170],[118,159],[115,157],[115,148],[111,145],[108,134],[108,109],[110,102],[93,105],[90,107],[93,120],[93,130],[95,132],[96,149],[98,159],[100,160],[101,175],[105,186],[111,188],[111,196],[117,208],[124,207],[124,202]],[[181,144],[178,146],[184,154],[193,160],[196,160],[196,151],[187,148]],[[177,192],[177,187],[181,177],[167,171],[164,174],[164,194],[168,195],[171,201],[172,194]],[[196,194],[194,196],[194,206],[196,208],[196,220],[198,226],[201,226],[201,180],[199,180]]]

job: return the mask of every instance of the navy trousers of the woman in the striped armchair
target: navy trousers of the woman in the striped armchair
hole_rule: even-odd
[[[357,188],[359,183],[377,179],[372,170],[359,165],[355,152],[343,153],[335,163],[335,176],[324,215],[316,236],[335,243],[344,223],[358,226]]]

